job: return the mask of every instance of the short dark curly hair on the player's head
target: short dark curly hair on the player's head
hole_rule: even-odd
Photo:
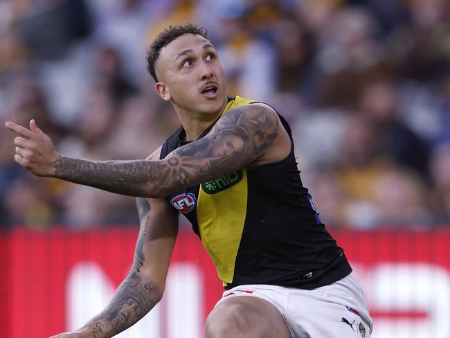
[[[195,24],[192,24],[192,22],[188,22],[187,24],[183,24],[181,26],[170,26],[168,29],[165,29],[159,33],[147,51],[147,71],[150,75],[152,75],[152,78],[154,78],[156,82],[159,80],[156,77],[154,66],[156,64],[156,60],[158,60],[161,48],[170,44],[170,42],[177,39],[177,37],[185,34],[201,35],[209,40],[208,30],[203,27],[197,27]]]

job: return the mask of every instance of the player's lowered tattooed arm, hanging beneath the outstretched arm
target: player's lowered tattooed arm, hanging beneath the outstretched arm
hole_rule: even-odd
[[[141,228],[129,275],[96,317],[75,332],[51,338],[112,337],[145,316],[163,295],[178,216],[164,199],[136,199]],[[150,205],[152,208],[150,208]]]

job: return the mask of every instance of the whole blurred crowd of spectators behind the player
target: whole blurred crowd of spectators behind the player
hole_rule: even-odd
[[[229,94],[285,116],[329,226],[450,224],[447,0],[1,0],[0,122],[57,150],[143,159],[177,128],[145,53],[162,28],[210,33]],[[15,164],[0,132],[0,228],[138,222],[134,199]]]

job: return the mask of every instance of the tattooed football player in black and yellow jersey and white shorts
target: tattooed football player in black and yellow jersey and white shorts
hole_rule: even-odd
[[[226,289],[206,337],[369,337],[363,294],[300,181],[285,120],[264,103],[226,96],[203,28],[165,30],[147,60],[157,93],[181,121],[147,160],[64,157],[35,121],[30,130],[6,123],[19,134],[15,161],[35,175],[138,196],[129,276],[98,316],[53,337],[111,337],[150,311],[163,295],[179,212]]]

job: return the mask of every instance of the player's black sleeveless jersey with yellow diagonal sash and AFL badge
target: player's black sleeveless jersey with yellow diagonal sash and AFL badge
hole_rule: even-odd
[[[254,102],[230,98],[223,114]],[[244,168],[167,197],[192,223],[226,289],[270,284],[310,290],[352,271],[303,187],[291,130],[282,116],[280,120],[291,138],[285,159]],[[174,132],[161,148],[161,159],[187,144],[185,136],[183,127]]]

